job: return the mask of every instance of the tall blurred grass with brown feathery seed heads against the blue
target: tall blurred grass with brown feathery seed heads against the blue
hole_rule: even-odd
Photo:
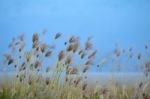
[[[58,32],[52,39],[59,40],[61,36],[62,33]],[[114,82],[107,86],[88,83],[90,67],[105,63],[105,60],[100,64],[94,62],[97,49],[91,37],[82,45],[79,37],[72,35],[57,54],[57,46],[43,42],[39,33],[33,34],[30,49],[25,48],[24,39],[24,34],[14,38],[9,44],[11,51],[4,54],[4,64],[14,68],[16,76],[11,82],[7,80],[0,84],[0,99],[150,99],[150,80],[135,86],[121,86]],[[145,49],[148,49],[147,45]],[[56,63],[50,64],[47,59],[54,61],[53,53]],[[119,48],[113,52],[117,58],[122,53],[124,50]],[[129,53],[129,58],[132,58],[132,48]],[[137,59],[141,58],[139,53]],[[46,68],[42,71],[44,65]],[[150,62],[144,66],[145,74],[149,76]]]

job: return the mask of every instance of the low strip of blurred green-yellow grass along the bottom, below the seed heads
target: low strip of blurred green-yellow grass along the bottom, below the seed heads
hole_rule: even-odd
[[[32,79],[32,83],[20,82],[14,79],[12,82],[0,84],[0,99],[149,99],[149,81],[142,85],[117,85],[99,84],[88,85],[83,90],[82,83],[78,86],[65,83],[45,83],[42,76]],[[145,96],[144,96],[145,95]],[[147,98],[145,98],[147,97]]]

